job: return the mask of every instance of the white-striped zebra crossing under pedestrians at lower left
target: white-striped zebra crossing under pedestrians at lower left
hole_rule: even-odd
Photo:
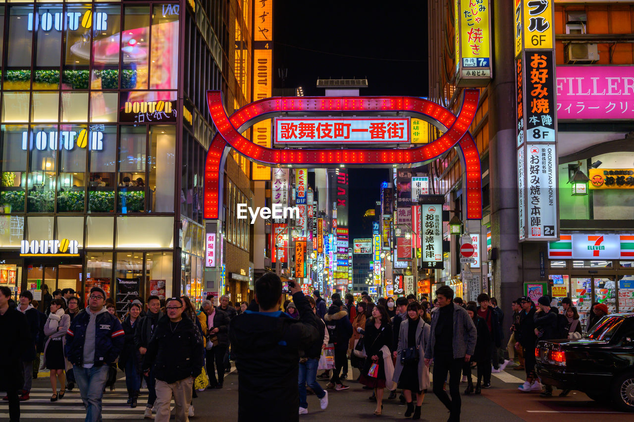
[[[34,380],[34,385],[44,385],[39,380]],[[46,385],[48,385],[48,379]],[[127,390],[125,384],[117,381],[117,390],[111,392],[106,389],[103,393],[103,419],[143,419],[145,404],[148,400],[148,391],[141,390],[139,395],[138,406],[134,409],[126,404]],[[37,387],[32,388],[30,399],[20,402],[20,420],[27,421],[29,419],[69,419],[81,420],[86,418],[86,411],[79,395],[79,390],[75,386],[72,391],[67,391],[63,399],[51,402],[51,388]],[[172,400],[171,410],[174,409],[174,401]],[[8,402],[0,402],[0,421],[9,419]]]

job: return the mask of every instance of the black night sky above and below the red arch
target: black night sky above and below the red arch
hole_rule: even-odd
[[[427,96],[427,1],[275,0],[274,87],[324,95],[317,79],[368,79],[361,95]],[[287,70],[281,80],[278,69]],[[391,169],[350,169],[350,241],[369,237],[363,214]]]

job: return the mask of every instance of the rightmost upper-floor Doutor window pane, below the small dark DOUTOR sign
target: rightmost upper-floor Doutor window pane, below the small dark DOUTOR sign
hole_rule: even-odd
[[[148,211],[174,212],[176,126],[150,126]]]

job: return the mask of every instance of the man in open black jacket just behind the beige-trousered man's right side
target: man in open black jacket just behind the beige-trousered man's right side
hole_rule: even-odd
[[[230,307],[233,309],[233,307]],[[211,350],[207,350],[207,375],[209,375],[209,388],[223,388],[224,381],[224,354],[229,347],[229,323],[230,317],[220,307],[215,307],[210,300],[202,301],[202,312],[198,315],[204,335],[209,339],[216,339]],[[216,369],[214,369],[216,362]],[[216,381],[216,370],[218,380]]]

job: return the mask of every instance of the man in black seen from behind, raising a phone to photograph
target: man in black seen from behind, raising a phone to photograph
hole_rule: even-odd
[[[239,421],[299,420],[299,350],[313,345],[321,333],[301,286],[288,285],[299,319],[280,311],[281,280],[268,272],[256,281],[259,312],[246,310],[231,321]]]

